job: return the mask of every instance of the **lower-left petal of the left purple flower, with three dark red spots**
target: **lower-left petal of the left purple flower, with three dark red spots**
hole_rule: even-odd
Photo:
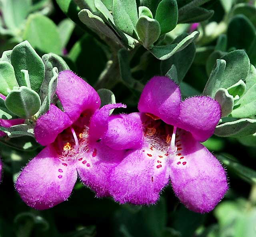
[[[50,145],[22,170],[16,190],[27,205],[43,210],[65,201],[76,179],[74,164],[60,160]]]

